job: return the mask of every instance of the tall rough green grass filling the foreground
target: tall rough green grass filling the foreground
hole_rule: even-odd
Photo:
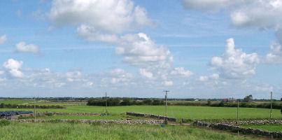
[[[250,139],[187,126],[12,123],[1,139]]]

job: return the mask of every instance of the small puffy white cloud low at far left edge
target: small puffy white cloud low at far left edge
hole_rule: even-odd
[[[10,73],[10,76],[13,76],[15,78],[22,78],[24,76],[24,73],[20,71],[20,68],[22,67],[23,62],[18,62],[15,59],[8,59],[7,62],[3,63],[3,67]]]

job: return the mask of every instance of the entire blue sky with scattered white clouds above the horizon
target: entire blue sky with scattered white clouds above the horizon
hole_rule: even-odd
[[[282,97],[282,0],[0,7],[0,97]]]

